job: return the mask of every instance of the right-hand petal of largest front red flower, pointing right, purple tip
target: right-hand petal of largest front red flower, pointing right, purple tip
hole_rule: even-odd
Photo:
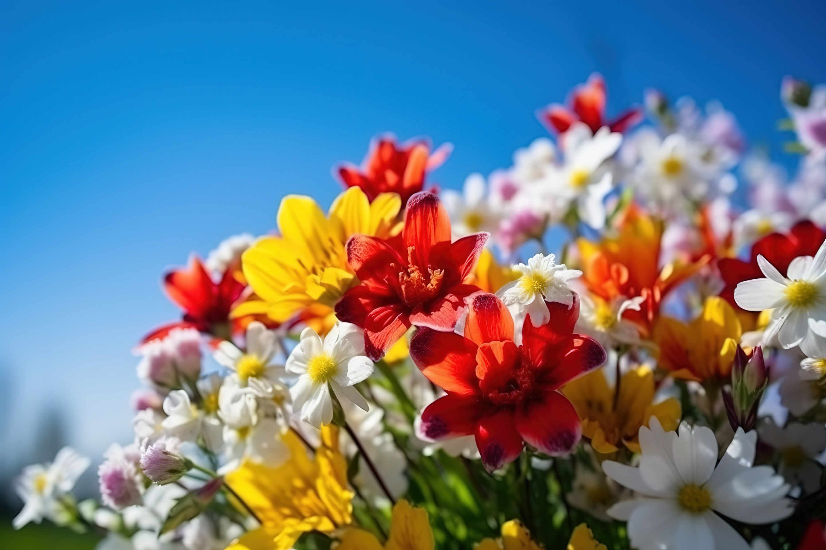
[[[525,353],[525,347],[522,348]],[[599,343],[588,336],[568,336],[556,346],[545,349],[539,362],[531,362],[537,374],[536,384],[544,390],[562,388],[572,379],[582,376],[605,363],[607,355]]]

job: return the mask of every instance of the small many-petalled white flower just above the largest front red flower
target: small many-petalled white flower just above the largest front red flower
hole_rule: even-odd
[[[537,254],[529,259],[527,266],[514,266],[514,270],[519,271],[522,276],[506,284],[496,293],[510,309],[515,320],[524,320],[525,316],[529,315],[534,327],[542,327],[551,318],[546,300],[571,307],[573,290],[567,281],[579,277],[582,271],[569,270],[565,264],[557,266],[553,263],[554,260],[553,254]],[[520,333],[521,330],[517,330],[515,335]]]

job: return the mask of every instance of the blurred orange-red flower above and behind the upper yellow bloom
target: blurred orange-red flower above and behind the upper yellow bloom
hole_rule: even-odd
[[[361,187],[368,199],[379,193],[398,193],[401,204],[424,189],[427,172],[440,167],[450,156],[453,146],[445,143],[430,154],[430,141],[411,140],[396,145],[392,135],[373,140],[361,167],[346,164],[339,167],[344,186]]]

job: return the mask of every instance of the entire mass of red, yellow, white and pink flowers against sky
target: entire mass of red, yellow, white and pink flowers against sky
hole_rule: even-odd
[[[100,550],[826,548],[826,87],[798,172],[733,115],[591,78],[461,192],[374,140],[326,212],[164,275],[135,439],[26,468],[17,528]],[[648,118],[648,123],[643,122]],[[748,205],[748,206],[747,206]],[[562,242],[560,254],[548,242]]]

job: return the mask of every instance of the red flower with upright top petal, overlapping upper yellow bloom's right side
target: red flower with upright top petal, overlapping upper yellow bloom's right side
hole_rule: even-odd
[[[464,299],[479,290],[464,281],[487,237],[476,233],[450,242],[450,219],[439,197],[413,195],[401,238],[354,235],[347,242],[347,261],[361,282],[339,300],[335,315],[364,329],[364,346],[374,361],[411,324],[452,331]]]

